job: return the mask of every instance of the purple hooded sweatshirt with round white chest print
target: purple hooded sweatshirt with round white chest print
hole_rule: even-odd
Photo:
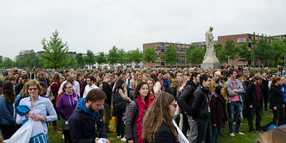
[[[57,103],[57,111],[62,117],[69,119],[69,116],[74,112],[74,108],[77,107],[77,100],[79,98],[80,96],[74,91],[72,91],[71,95],[64,92]]]

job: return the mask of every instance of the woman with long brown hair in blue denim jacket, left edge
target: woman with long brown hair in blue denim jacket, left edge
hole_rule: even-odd
[[[4,81],[0,95],[0,129],[4,139],[10,137],[17,131],[16,114],[15,114],[15,93],[13,82]]]

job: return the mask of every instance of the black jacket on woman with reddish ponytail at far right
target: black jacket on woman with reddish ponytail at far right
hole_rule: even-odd
[[[270,88],[270,103],[272,108],[276,105],[284,104],[284,98],[281,91],[281,86],[276,86],[273,84]]]

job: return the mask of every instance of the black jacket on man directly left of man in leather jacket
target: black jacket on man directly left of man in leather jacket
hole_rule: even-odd
[[[194,92],[197,89],[197,85],[194,81],[189,80],[186,83],[185,90],[181,93],[180,97],[178,98],[178,103],[181,105],[180,111],[182,113],[188,113],[189,116],[192,116],[192,105],[194,101]]]

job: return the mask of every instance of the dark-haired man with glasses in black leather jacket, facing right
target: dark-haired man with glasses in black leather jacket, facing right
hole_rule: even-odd
[[[192,119],[198,126],[197,142],[212,142],[211,120],[210,120],[210,98],[209,87],[212,84],[212,76],[200,75],[200,85],[194,92],[192,104]]]

